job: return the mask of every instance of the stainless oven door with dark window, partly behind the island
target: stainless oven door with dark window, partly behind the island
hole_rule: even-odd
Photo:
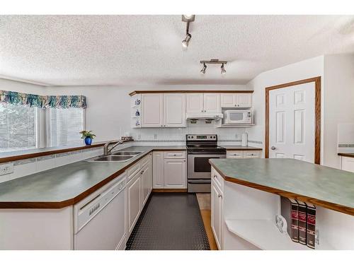
[[[212,167],[209,163],[210,158],[226,158],[226,155],[188,155],[188,179],[210,179]]]

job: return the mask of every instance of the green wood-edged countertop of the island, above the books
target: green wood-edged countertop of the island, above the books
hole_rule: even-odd
[[[354,173],[295,159],[210,159],[225,180],[354,216]]]

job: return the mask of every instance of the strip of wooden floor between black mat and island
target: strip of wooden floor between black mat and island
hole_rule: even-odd
[[[215,242],[214,234],[212,233],[210,194],[202,193],[196,195],[198,199],[200,213],[202,214],[202,221],[204,223],[205,232],[207,232],[207,240],[209,240],[210,249],[218,250],[217,243]]]

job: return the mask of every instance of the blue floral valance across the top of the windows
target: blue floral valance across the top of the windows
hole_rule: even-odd
[[[69,107],[81,107],[86,109],[86,97],[84,95],[33,95],[0,90],[0,102],[41,108],[67,109]]]

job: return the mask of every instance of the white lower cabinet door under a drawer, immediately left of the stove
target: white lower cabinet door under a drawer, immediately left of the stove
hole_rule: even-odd
[[[164,160],[164,187],[167,189],[185,189],[185,159]]]

